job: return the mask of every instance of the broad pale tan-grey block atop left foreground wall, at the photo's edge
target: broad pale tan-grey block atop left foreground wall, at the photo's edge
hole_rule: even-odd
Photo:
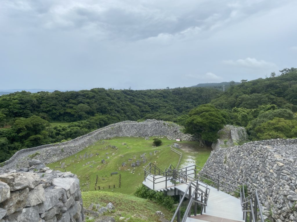
[[[26,187],[33,189],[40,182],[36,173],[6,173],[0,175],[0,181],[10,186],[10,191],[21,190]]]

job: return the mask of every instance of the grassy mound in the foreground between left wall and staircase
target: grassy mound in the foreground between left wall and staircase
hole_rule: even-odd
[[[100,195],[98,195],[100,193]],[[115,206],[116,213],[107,213],[107,215],[113,216],[116,221],[119,221],[119,213],[122,217],[128,218],[135,214],[141,214],[146,216],[147,220],[141,220],[139,218],[131,218],[130,222],[136,221],[159,221],[159,218],[154,215],[157,210],[164,213],[165,218],[171,220],[173,212],[170,212],[165,207],[152,202],[151,200],[135,197],[133,195],[111,193],[105,191],[89,191],[83,192],[83,205],[88,207],[91,203],[95,205],[99,203],[101,206],[106,206],[109,202],[112,202]],[[114,214],[114,215],[113,215]],[[92,221],[92,220],[90,220]]]

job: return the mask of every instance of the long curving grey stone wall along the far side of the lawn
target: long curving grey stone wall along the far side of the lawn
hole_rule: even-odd
[[[78,153],[98,140],[118,136],[167,136],[168,139],[179,138],[186,141],[195,140],[190,134],[182,133],[181,126],[178,126],[175,123],[160,120],[146,120],[140,123],[135,121],[124,121],[105,126],[64,143],[48,144],[19,150],[9,160],[4,162],[3,168],[11,169],[26,167],[28,161],[32,159],[32,157],[41,160],[43,163],[53,163]]]

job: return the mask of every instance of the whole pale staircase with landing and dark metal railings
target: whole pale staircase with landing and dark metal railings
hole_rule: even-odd
[[[211,183],[211,186],[201,180]],[[149,163],[144,169],[143,185],[167,195],[179,195],[180,203],[171,222],[176,221],[176,217],[178,222],[243,222],[247,221],[248,214],[252,218],[249,221],[256,222],[260,218],[264,222],[256,191],[249,197],[244,197],[242,183],[197,165],[182,169],[175,169],[170,165],[168,169],[161,170]],[[240,199],[220,189],[237,193]],[[180,206],[185,198],[189,200],[189,204],[185,214],[180,215]],[[194,215],[191,215],[193,203]],[[197,205],[201,208],[200,215],[197,215]]]

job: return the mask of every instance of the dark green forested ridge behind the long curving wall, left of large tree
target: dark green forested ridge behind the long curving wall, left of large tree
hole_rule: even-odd
[[[26,91],[0,96],[0,162],[19,149],[60,142],[124,120],[175,119],[211,101],[219,90]],[[49,122],[70,123],[50,126]],[[3,127],[3,128],[1,128]]]

